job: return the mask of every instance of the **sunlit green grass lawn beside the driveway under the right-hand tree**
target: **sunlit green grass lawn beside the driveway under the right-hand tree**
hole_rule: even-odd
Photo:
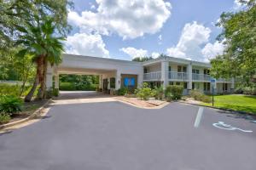
[[[203,103],[203,105],[212,106],[212,103]],[[246,111],[256,115],[256,96],[241,94],[216,95],[214,96],[214,106],[234,111]]]

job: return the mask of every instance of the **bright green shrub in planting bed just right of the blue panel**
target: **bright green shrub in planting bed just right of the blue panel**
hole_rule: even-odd
[[[147,82],[143,82],[142,87],[137,88],[135,93],[137,94],[138,98],[148,100],[150,97],[154,97],[155,90],[149,88]]]

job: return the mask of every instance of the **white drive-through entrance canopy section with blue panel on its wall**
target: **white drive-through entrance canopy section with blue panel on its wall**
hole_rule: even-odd
[[[133,61],[63,54],[61,65],[48,67],[46,87],[49,90],[59,89],[61,74],[96,75],[99,78],[97,91],[114,94],[116,90],[126,85],[128,88],[137,88],[137,85],[143,82],[142,68],[141,63]]]

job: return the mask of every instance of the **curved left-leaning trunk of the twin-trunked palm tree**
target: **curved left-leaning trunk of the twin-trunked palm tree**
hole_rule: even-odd
[[[44,61],[44,55],[38,56],[37,59],[37,75],[35,77],[35,81],[33,83],[32,88],[30,89],[29,93],[25,97],[26,102],[30,102],[32,99],[33,94],[35,93],[35,90],[38,88],[38,83],[42,82],[42,76],[43,76],[43,61]]]

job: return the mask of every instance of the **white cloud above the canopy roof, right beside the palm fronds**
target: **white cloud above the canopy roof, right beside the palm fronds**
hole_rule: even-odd
[[[67,37],[66,53],[94,57],[109,57],[106,45],[99,34],[76,33]]]

